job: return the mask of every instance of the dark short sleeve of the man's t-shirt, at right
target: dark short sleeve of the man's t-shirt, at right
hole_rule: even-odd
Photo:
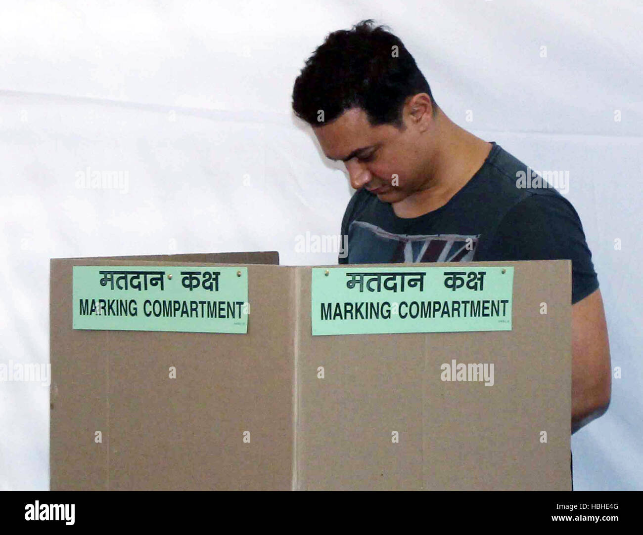
[[[484,256],[487,260],[570,259],[572,304],[599,287],[581,219],[562,196],[530,195],[512,207]]]

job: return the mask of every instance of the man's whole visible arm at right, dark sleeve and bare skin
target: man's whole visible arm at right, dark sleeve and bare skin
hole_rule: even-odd
[[[578,214],[562,197],[532,195],[509,211],[482,260],[572,259],[572,433],[610,404],[611,362],[601,290]],[[591,289],[595,288],[591,293]],[[574,301],[574,297],[584,295]]]

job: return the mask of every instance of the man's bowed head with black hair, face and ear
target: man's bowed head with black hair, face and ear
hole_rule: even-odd
[[[346,162],[353,188],[383,186],[379,198],[396,202],[426,174],[432,136],[422,134],[438,108],[413,57],[383,26],[368,20],[331,33],[294,83],[293,110],[328,157]]]

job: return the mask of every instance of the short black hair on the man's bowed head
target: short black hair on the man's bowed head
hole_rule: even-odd
[[[403,42],[385,28],[367,19],[351,30],[330,33],[294,81],[295,115],[320,127],[359,107],[371,126],[401,129],[406,98],[427,93],[435,116],[437,104],[426,78]]]

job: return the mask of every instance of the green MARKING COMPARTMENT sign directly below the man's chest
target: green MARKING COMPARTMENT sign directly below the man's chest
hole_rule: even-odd
[[[312,268],[312,335],[511,331],[512,267]]]

